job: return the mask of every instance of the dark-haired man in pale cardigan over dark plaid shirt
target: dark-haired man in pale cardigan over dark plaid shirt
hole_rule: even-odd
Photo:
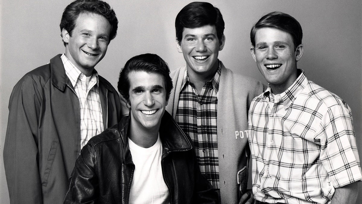
[[[218,8],[193,2],[175,22],[178,52],[186,66],[171,73],[174,89],[167,111],[193,140],[198,164],[218,189],[222,203],[253,201],[246,191],[249,146],[247,116],[263,85],[234,74],[218,60],[225,44]]]

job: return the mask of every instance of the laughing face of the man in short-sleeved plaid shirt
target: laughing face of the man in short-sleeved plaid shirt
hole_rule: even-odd
[[[296,62],[303,55],[303,45],[294,48],[291,34],[276,28],[260,28],[251,54],[274,94],[282,93],[298,78]]]

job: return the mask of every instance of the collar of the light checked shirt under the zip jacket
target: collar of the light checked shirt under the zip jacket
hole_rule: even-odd
[[[81,77],[80,75],[82,73],[78,68],[76,68],[76,66],[68,59],[68,57],[65,54],[62,54],[60,58],[62,58],[64,69],[66,71],[67,76],[69,77],[73,87],[75,87],[75,85],[77,84],[77,80],[78,78]],[[96,82],[97,82],[96,86],[98,87],[99,79],[98,79],[98,72],[96,71],[96,69],[93,69],[92,78],[93,77],[96,77]],[[92,78],[90,80],[92,80]]]

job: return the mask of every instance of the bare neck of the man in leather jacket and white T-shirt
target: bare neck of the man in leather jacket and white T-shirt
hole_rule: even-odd
[[[140,147],[148,148],[152,147],[157,142],[159,134],[159,126],[153,129],[139,128],[138,126],[130,124],[130,130],[128,131],[128,137]]]

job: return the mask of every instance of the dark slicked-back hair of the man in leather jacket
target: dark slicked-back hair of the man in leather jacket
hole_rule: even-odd
[[[170,77],[170,69],[161,57],[157,54],[146,53],[134,56],[126,62],[121,72],[119,72],[117,88],[127,102],[129,102],[130,99],[130,79],[128,76],[130,72],[134,71],[161,74],[165,79],[166,101],[168,101],[173,85]]]

